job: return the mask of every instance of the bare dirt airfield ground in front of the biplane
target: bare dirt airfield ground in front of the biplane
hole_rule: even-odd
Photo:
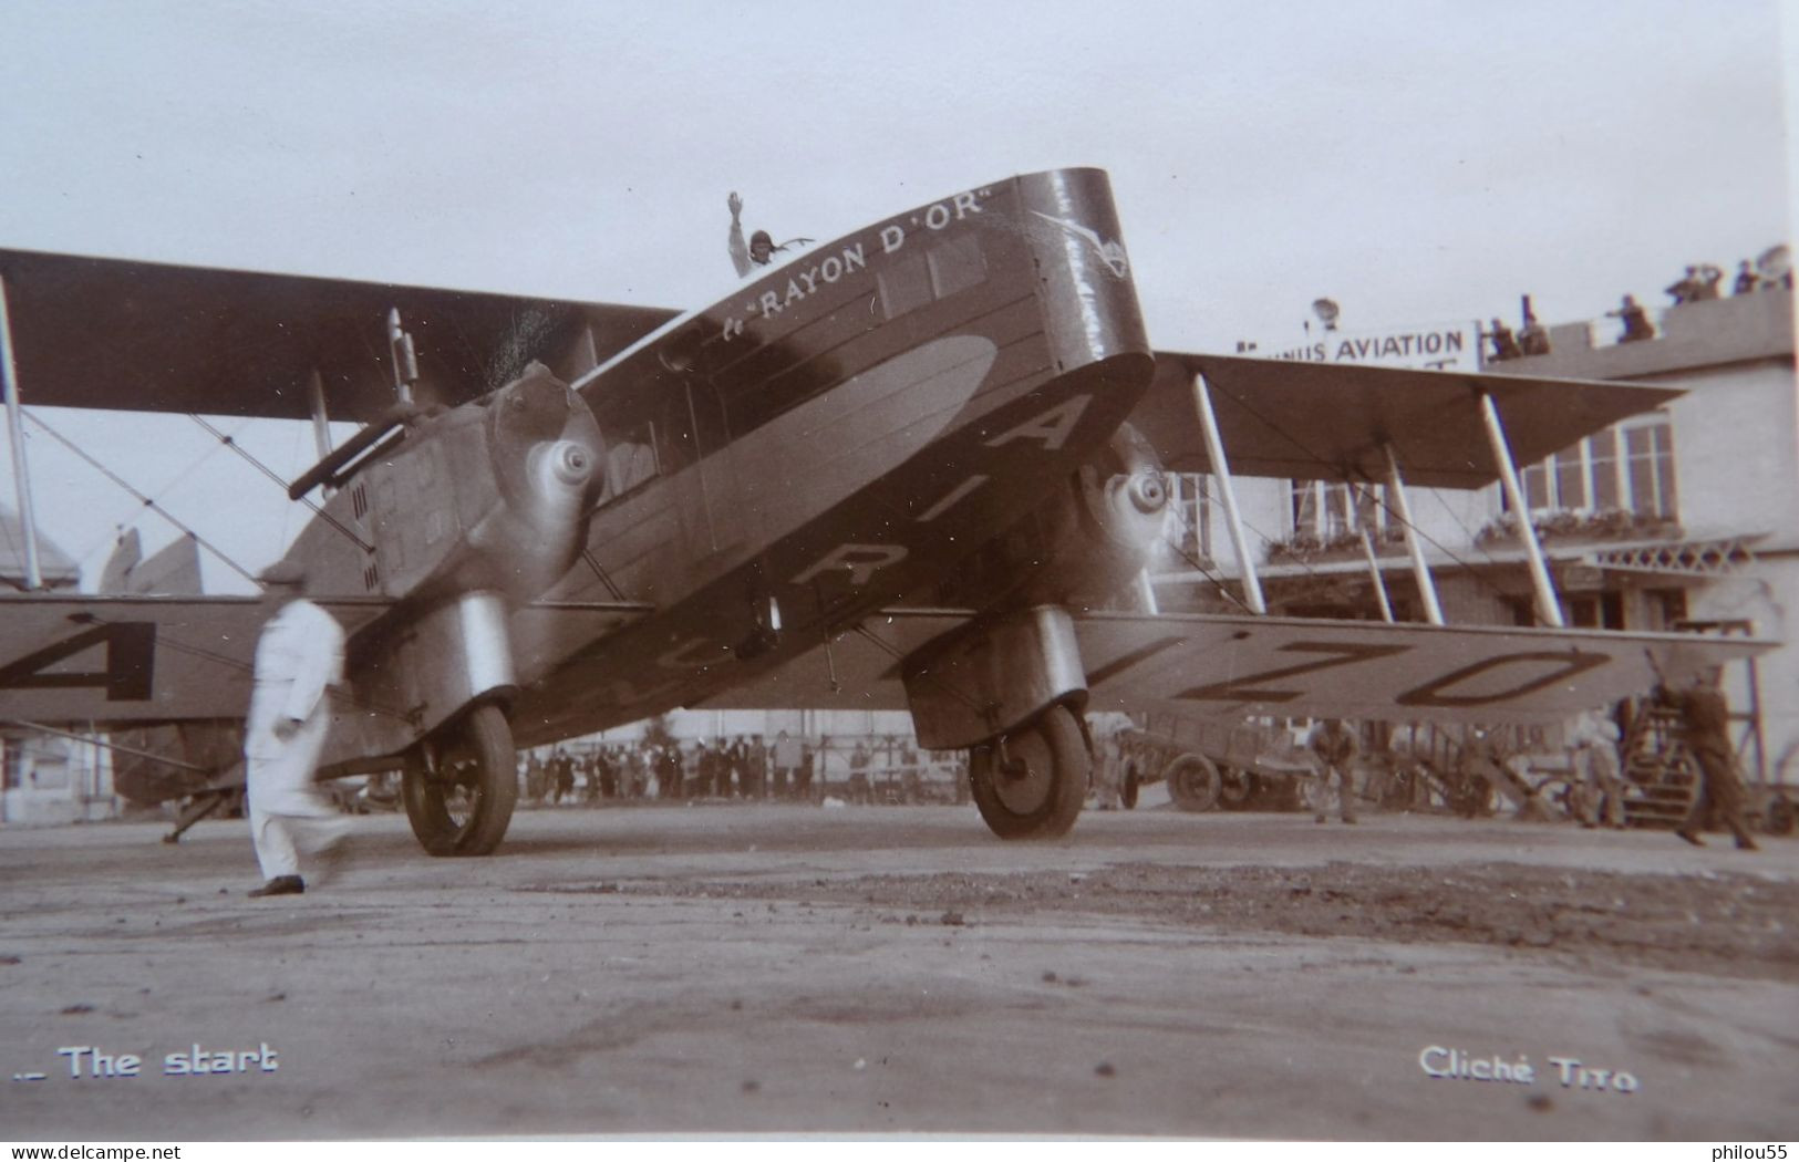
[[[1792,840],[1139,809],[1002,844],[971,808],[568,808],[488,860],[360,818],[326,881],[257,901],[243,822],[158,833],[0,833],[0,1137],[1799,1122]],[[79,1047],[140,1076],[86,1052],[72,1077]],[[257,1059],[167,1072],[196,1049]],[[1493,1059],[1531,1079],[1430,1076]]]

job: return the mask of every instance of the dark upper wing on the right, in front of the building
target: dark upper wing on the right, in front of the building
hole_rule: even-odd
[[[1635,383],[1159,351],[1155,380],[1130,421],[1175,471],[1213,471],[1195,374],[1205,376],[1232,473],[1383,480],[1382,448],[1391,444],[1407,484],[1428,487],[1484,487],[1499,478],[1481,394],[1493,398],[1518,464],[1680,394]]]

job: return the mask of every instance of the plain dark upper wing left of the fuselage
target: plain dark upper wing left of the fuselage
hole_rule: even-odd
[[[421,398],[444,405],[543,353],[604,360],[675,315],[29,250],[0,250],[0,277],[23,399],[135,412],[306,419],[318,371],[331,419],[374,419],[394,403],[389,309],[417,344]]]

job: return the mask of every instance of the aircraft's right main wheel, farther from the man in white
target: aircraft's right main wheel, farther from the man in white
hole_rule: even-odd
[[[1069,707],[1051,707],[1002,737],[968,752],[968,779],[980,818],[1002,840],[1067,835],[1087,799],[1092,757]]]

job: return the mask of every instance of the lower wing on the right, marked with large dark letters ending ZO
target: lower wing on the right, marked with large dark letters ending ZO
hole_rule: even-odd
[[[968,622],[889,610],[714,698],[741,709],[905,709],[900,658]],[[1776,642],[1693,633],[1509,630],[1299,617],[1076,615],[1090,711],[1391,721],[1560,721],[1642,694],[1657,667],[1722,664]],[[935,671],[953,684],[953,671]],[[973,689],[970,689],[973,696]]]

